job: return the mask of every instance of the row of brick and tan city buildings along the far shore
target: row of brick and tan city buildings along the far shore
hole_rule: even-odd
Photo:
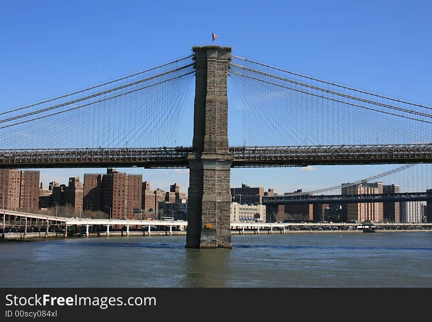
[[[77,215],[84,211],[86,218],[100,217],[109,213],[109,219],[165,218],[171,213],[173,219],[188,220],[188,196],[180,191],[179,183],[171,184],[169,190],[151,189],[151,182],[140,174],[119,172],[108,168],[106,173],[85,173],[83,181],[77,176],[69,177],[68,184],[50,181],[48,189],[39,181],[39,171],[1,170],[1,202],[4,209],[24,212],[55,214],[58,206],[60,216]],[[39,184],[40,182],[40,184]],[[427,192],[431,192],[429,189]],[[382,181],[341,183],[341,195],[393,194],[399,193],[396,183]],[[306,193],[302,189],[283,195]],[[334,193],[333,193],[334,194]],[[339,194],[339,193],[338,193]],[[251,187],[242,183],[231,187],[231,222],[275,222],[301,220],[314,222],[375,222],[375,223],[422,223],[431,221],[426,201],[280,203],[269,204],[263,198],[277,196],[272,188]],[[282,195],[282,194],[280,194]],[[309,195],[313,195],[309,193]],[[276,197],[276,199],[279,197]],[[6,203],[5,203],[6,200]],[[267,203],[266,203],[267,202]],[[429,204],[429,201],[428,201]],[[30,208],[31,205],[31,208]],[[276,207],[274,207],[276,206]],[[70,207],[68,209],[68,207]],[[51,208],[51,210],[49,209]],[[31,209],[31,210],[30,210]],[[109,209],[109,212],[108,212]],[[72,211],[72,213],[71,213]],[[69,216],[70,216],[69,215]],[[88,217],[91,216],[91,217]]]

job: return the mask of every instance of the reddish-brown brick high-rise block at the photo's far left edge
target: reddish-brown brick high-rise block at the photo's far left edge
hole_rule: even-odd
[[[39,207],[39,171],[0,169],[0,206],[32,212]]]

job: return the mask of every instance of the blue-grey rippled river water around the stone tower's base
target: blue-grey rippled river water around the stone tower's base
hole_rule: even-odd
[[[432,233],[186,236],[1,243],[0,287],[432,287]]]

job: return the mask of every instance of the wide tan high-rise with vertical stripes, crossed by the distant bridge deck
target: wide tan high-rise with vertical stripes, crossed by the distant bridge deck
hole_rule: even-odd
[[[342,183],[342,195],[365,195],[365,194],[382,194],[382,182],[362,182],[359,184]],[[382,202],[363,202],[348,203],[344,207],[347,209],[348,221],[371,221],[375,223],[383,222],[383,204]]]

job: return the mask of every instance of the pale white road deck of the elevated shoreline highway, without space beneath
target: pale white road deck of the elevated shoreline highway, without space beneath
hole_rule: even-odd
[[[50,222],[60,222],[62,225],[85,225],[87,226],[87,234],[88,234],[88,226],[90,225],[105,225],[107,226],[107,232],[109,233],[109,227],[112,225],[126,225],[126,226],[132,226],[132,225],[141,225],[146,226],[147,229],[150,232],[151,226],[169,226],[170,231],[172,227],[175,226],[187,226],[187,221],[166,221],[166,220],[125,220],[125,219],[88,219],[88,218],[70,218],[70,217],[61,217],[61,216],[48,216],[48,215],[40,215],[40,214],[33,214],[33,213],[26,213],[26,212],[19,212],[19,211],[11,211],[11,210],[3,210],[0,209],[0,214],[6,214],[10,216],[17,216],[22,218],[33,218],[33,219],[40,219],[40,220],[48,220]],[[4,223],[4,222],[3,222]],[[13,224],[5,224],[13,225]],[[408,227],[423,227],[425,229],[432,229],[432,223],[246,223],[246,222],[232,222],[231,223],[231,230],[240,230],[242,229],[256,229],[258,232],[260,229],[264,230],[281,230],[282,232],[285,232],[285,230],[291,230],[292,228],[299,227],[302,230],[311,230],[312,228],[315,229],[325,229],[329,230],[331,227],[338,227],[338,229],[349,227],[354,227],[358,229],[362,229],[363,227],[369,227],[370,225],[373,225],[376,228],[400,228],[400,229],[407,229]],[[129,231],[129,230],[128,230]]]

